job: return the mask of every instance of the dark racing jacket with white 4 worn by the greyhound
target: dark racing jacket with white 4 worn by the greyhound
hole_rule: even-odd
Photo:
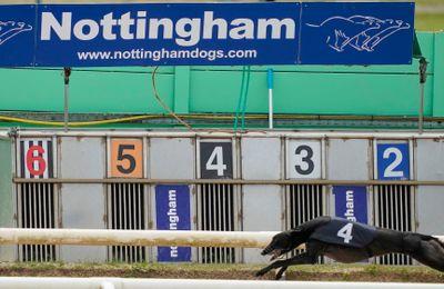
[[[376,237],[376,228],[352,222],[346,219],[331,218],[329,222],[316,227],[310,239],[352,248],[365,248]]]

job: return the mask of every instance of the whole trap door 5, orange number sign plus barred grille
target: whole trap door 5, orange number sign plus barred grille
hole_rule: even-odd
[[[145,177],[147,143],[143,138],[107,139],[107,175],[131,180]],[[118,182],[107,186],[108,228],[118,230],[148,229],[148,189],[143,183]],[[145,262],[148,248],[109,246],[108,259],[117,262]]]

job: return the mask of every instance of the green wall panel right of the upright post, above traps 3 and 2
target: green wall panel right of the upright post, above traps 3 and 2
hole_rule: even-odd
[[[241,89],[242,73],[231,71],[191,73],[192,112],[232,112]],[[224,79],[222,82],[212,79]],[[401,114],[418,111],[420,86],[415,74],[360,74],[276,72],[274,76],[275,113]],[[425,93],[425,114],[432,114],[433,76]],[[266,73],[252,72],[246,102],[248,113],[269,109]]]

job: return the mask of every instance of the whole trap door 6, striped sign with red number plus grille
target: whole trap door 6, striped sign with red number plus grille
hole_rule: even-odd
[[[56,167],[53,138],[17,139],[17,176],[26,179],[53,178]],[[58,228],[58,189],[54,183],[18,183],[17,216],[19,228]],[[20,245],[19,260],[51,262],[58,259],[53,245]]]

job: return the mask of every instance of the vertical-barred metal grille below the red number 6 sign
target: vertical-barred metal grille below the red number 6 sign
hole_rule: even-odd
[[[56,228],[57,195],[53,183],[18,185],[18,217],[20,228]],[[19,260],[32,262],[56,261],[53,245],[21,245]]]

